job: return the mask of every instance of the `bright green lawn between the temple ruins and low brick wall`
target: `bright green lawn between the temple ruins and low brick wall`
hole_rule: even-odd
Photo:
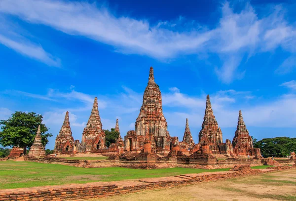
[[[165,169],[131,169],[122,167],[82,168],[28,161],[0,161],[0,189],[95,181],[119,181],[227,170],[229,168],[211,170],[181,167]]]

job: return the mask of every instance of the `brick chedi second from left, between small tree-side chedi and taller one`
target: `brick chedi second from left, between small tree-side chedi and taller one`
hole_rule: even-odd
[[[74,152],[74,138],[72,137],[72,131],[69,121],[69,112],[66,112],[65,120],[58,134],[55,146],[54,154],[70,154]]]

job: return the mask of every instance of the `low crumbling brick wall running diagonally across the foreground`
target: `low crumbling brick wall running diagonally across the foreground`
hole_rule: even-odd
[[[204,172],[118,182],[93,182],[88,184],[6,189],[0,190],[0,201],[65,201],[100,198],[138,192],[141,190],[160,189],[199,182],[237,178],[245,175],[256,175],[264,172],[292,168],[296,168],[296,166],[278,166],[264,170],[251,169],[250,166],[238,166],[237,168],[231,169],[231,171],[224,172]]]

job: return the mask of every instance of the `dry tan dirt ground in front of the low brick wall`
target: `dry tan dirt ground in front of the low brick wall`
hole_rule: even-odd
[[[296,201],[296,170],[87,201]]]

